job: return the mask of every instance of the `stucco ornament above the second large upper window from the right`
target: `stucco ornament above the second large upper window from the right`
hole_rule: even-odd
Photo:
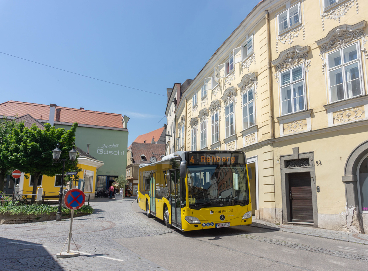
[[[282,70],[290,69],[291,67],[304,63],[305,72],[309,72],[308,67],[311,66],[311,60],[308,60],[308,52],[311,48],[309,46],[301,47],[299,45],[293,46],[289,49],[282,51],[279,57],[273,60],[271,63],[276,68],[276,81],[279,83],[279,75]]]

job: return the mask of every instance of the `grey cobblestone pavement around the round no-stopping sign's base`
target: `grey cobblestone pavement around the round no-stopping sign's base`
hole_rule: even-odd
[[[113,241],[117,238],[172,233],[139,218],[132,211],[135,198],[91,201],[92,215],[73,219],[71,250],[75,258],[56,258],[69,232],[70,219],[0,225],[0,271],[31,270],[165,270]],[[64,252],[66,248],[64,248]]]

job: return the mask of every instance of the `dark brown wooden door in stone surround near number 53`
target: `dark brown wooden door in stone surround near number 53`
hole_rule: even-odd
[[[313,223],[311,173],[289,173],[290,218]]]

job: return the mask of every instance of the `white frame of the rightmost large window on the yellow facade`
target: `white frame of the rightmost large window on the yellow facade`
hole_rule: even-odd
[[[355,49],[356,49],[356,52],[357,52],[357,59],[354,59],[354,60],[351,60],[349,62],[346,62],[346,63],[343,63],[343,50],[350,47],[350,46],[353,46],[355,45]],[[328,92],[329,92],[329,101],[330,103],[335,103],[337,101],[344,101],[344,100],[348,100],[348,99],[351,99],[351,98],[354,98],[354,97],[358,97],[360,95],[362,95],[364,93],[364,84],[363,84],[363,72],[362,72],[362,64],[361,64],[361,56],[360,56],[360,48],[359,48],[359,44],[358,42],[355,42],[353,44],[349,44],[349,45],[346,45],[340,49],[337,49],[337,50],[334,50],[332,52],[329,52],[326,54],[326,62],[327,62],[327,77],[328,77]],[[337,65],[335,67],[332,67],[330,68],[329,67],[329,59],[328,59],[328,56],[333,54],[333,53],[336,53],[337,51],[340,51],[340,57],[341,57],[341,64],[340,65]],[[348,93],[347,93],[347,87],[346,87],[346,74],[345,74],[345,67],[346,66],[349,66],[353,63],[358,63],[358,71],[359,71],[359,82],[360,82],[360,94],[359,95],[355,95],[355,96],[350,96],[350,97],[347,97],[348,96]],[[344,98],[343,99],[340,99],[340,100],[336,100],[336,101],[332,101],[332,93],[331,93],[331,80],[330,80],[330,72],[334,71],[334,70],[338,70],[338,69],[342,69],[342,79],[343,79],[343,89],[344,89]],[[351,81],[351,80],[350,80]]]

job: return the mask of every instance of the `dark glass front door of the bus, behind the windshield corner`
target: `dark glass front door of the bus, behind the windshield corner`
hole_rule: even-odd
[[[171,225],[181,229],[180,170],[170,170]]]

